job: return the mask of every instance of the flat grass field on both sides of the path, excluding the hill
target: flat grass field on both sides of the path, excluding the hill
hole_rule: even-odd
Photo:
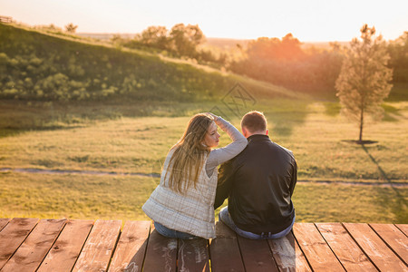
[[[222,102],[68,104],[0,102],[0,168],[160,173],[160,162],[196,112],[237,112]],[[251,108],[252,107],[252,108]],[[408,180],[408,102],[384,104],[364,147],[336,102],[257,100],[273,141],[294,151],[298,180],[401,183]],[[222,133],[221,146],[228,144]],[[147,219],[141,205],[158,178],[0,173],[1,217]],[[408,189],[360,185],[296,186],[297,221],[408,223]]]

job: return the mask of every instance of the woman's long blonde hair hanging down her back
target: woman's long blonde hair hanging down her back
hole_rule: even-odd
[[[178,192],[196,188],[199,173],[210,148],[203,144],[213,117],[206,113],[194,115],[180,141],[170,151],[174,151],[168,164],[166,176],[169,176],[169,188]]]

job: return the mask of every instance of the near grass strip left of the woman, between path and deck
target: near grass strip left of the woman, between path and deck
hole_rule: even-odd
[[[0,218],[147,219],[149,177],[0,173]]]

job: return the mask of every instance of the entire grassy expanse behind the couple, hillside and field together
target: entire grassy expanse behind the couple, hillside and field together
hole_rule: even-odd
[[[317,99],[189,61],[0,26],[2,218],[147,219],[141,205],[159,179],[121,173],[157,177],[197,112],[238,126],[258,110],[271,139],[296,156],[297,221],[408,223],[406,84],[394,86],[384,121],[364,128],[374,143],[361,146],[349,143],[358,129],[332,92]]]

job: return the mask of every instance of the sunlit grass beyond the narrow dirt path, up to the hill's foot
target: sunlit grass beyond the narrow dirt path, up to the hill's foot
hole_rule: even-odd
[[[134,112],[126,104],[3,105],[0,167],[142,173],[160,173],[157,165],[192,114],[214,106],[228,111],[221,103],[151,106],[151,116],[138,116],[143,104],[132,105],[139,109]],[[267,116],[272,140],[294,151],[300,180],[408,180],[407,102],[385,105],[389,117],[364,129],[364,139],[377,142],[364,147],[346,142],[357,138],[358,129],[339,114],[327,114],[327,105],[333,107],[331,102],[287,99],[256,105]],[[238,126],[238,116],[230,116]],[[223,133],[221,145],[228,142]]]

